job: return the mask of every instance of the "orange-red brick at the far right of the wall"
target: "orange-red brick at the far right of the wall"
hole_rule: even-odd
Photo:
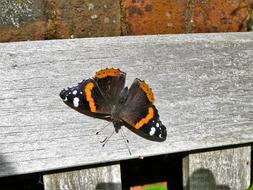
[[[247,31],[248,9],[246,0],[196,0],[192,32]]]

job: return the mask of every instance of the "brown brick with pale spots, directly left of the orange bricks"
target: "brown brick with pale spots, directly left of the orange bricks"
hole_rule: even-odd
[[[121,34],[118,0],[47,0],[48,38]]]

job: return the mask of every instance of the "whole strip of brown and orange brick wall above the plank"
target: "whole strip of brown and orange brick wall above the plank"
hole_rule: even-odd
[[[253,0],[1,0],[0,42],[253,30]]]

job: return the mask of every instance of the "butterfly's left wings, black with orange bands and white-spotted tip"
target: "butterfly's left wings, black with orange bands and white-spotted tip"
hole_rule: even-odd
[[[119,69],[98,71],[94,78],[63,89],[60,97],[71,108],[94,117],[111,115],[112,105],[125,85],[124,72]]]

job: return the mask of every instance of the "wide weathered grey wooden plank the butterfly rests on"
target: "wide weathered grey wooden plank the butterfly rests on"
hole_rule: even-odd
[[[0,176],[253,142],[253,33],[89,38],[0,44]],[[68,108],[62,88],[105,67],[146,80],[165,142]]]

